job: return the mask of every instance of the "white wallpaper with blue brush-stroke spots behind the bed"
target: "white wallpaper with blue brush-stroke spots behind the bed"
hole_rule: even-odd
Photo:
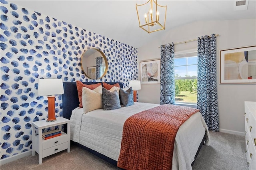
[[[38,79],[95,81],[81,69],[84,50],[96,47],[108,59],[108,72],[98,81],[128,82],[138,78],[137,49],[39,12],[1,2],[1,159],[32,149],[33,121],[46,119],[47,97],[37,95]],[[56,96],[62,116],[62,95]]]

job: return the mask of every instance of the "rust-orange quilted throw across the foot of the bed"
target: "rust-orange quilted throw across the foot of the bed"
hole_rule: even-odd
[[[129,117],[123,128],[117,166],[129,170],[170,170],[179,127],[197,109],[160,105]]]

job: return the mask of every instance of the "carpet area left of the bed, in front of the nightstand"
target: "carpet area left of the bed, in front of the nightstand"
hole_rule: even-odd
[[[118,170],[112,164],[90,152],[71,145],[70,152],[63,150],[46,158],[38,164],[38,154],[27,156],[0,166],[1,170]],[[119,169],[120,170],[120,169]]]

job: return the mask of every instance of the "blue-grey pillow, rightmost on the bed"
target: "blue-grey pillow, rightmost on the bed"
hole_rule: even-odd
[[[132,87],[126,91],[120,88],[120,101],[122,103],[122,107],[131,106],[134,104]]]

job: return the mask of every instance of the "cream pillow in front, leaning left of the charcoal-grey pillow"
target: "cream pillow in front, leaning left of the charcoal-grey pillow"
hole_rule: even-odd
[[[83,87],[82,103],[84,112],[102,109],[102,86],[98,86],[93,90]]]

